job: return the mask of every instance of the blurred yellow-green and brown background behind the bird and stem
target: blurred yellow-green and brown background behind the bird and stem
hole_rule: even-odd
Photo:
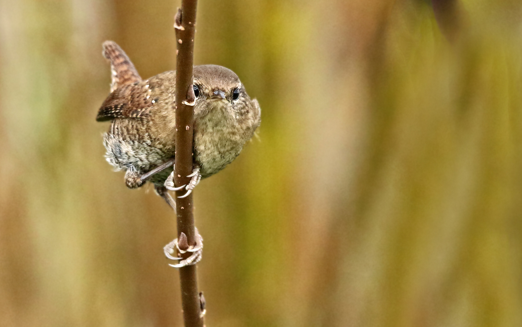
[[[126,188],[94,120],[102,42],[174,69],[177,6],[0,0],[0,326],[182,326],[174,215]],[[195,191],[207,326],[522,326],[522,3],[437,18],[199,0],[195,63],[262,107]]]

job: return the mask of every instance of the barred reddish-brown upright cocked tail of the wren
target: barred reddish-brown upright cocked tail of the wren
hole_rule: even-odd
[[[141,80],[133,63],[116,42],[103,42],[103,56],[111,61],[111,92],[122,85]]]

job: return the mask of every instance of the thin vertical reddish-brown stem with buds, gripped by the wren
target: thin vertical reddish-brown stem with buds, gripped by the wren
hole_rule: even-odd
[[[186,176],[192,173],[193,166],[193,126],[194,101],[193,84],[194,62],[194,32],[196,25],[197,0],[182,0],[178,9],[174,28],[176,32],[176,154],[175,154],[175,185],[188,184]],[[192,104],[192,106],[191,106]],[[185,190],[176,192],[177,237],[181,233],[187,236],[188,244],[194,245],[194,216],[192,213],[192,194],[185,198]],[[189,255],[185,253],[184,255]],[[185,256],[184,256],[185,258]],[[196,266],[189,265],[180,268],[181,300],[185,327],[203,327],[203,317],[197,289]]]

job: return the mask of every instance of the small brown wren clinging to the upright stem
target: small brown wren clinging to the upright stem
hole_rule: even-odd
[[[126,170],[128,188],[138,188],[149,180],[173,206],[165,186],[174,186],[176,72],[141,80],[133,63],[113,41],[103,43],[103,55],[111,62],[111,94],[96,120],[112,121],[103,136],[107,161],[116,170]],[[196,168],[188,191],[200,178],[230,164],[261,122],[257,100],[248,97],[239,77],[228,68],[194,66],[194,94]]]

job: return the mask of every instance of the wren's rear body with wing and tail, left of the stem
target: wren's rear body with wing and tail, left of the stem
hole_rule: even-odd
[[[105,42],[103,54],[111,61],[112,84],[97,120],[112,120],[103,137],[107,161],[116,170],[147,172],[174,156],[175,72],[141,80],[116,43]]]

